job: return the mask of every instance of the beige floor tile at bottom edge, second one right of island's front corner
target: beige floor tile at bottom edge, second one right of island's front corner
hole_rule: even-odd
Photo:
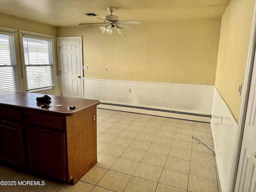
[[[109,170],[98,182],[97,186],[122,192],[132,176]]]

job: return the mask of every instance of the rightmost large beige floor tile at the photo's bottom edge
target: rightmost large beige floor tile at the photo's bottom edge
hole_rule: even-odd
[[[192,192],[218,192],[217,181],[197,177],[194,175],[189,176],[188,191]]]

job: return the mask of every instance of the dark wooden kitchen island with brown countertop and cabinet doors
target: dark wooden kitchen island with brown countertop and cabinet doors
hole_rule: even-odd
[[[41,108],[42,96],[0,90],[0,160],[75,184],[97,163],[100,101],[48,95]]]

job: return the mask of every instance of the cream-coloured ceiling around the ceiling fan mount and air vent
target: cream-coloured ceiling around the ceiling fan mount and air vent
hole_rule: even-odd
[[[0,0],[0,14],[52,26],[78,26],[102,20],[83,13],[109,15],[114,7],[120,20],[162,22],[221,18],[230,0]]]

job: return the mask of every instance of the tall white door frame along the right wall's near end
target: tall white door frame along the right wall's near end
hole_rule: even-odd
[[[255,49],[256,49],[256,1],[254,1],[250,41],[249,41],[248,53],[247,53],[247,59],[246,59],[244,82],[242,86],[242,98],[241,98],[241,104],[240,104],[240,110],[239,110],[238,127],[237,127],[238,130],[236,134],[236,144],[235,144],[235,150],[234,150],[235,154],[233,159],[233,167],[231,171],[231,182],[230,182],[231,191],[234,191],[235,185],[236,185],[238,163],[240,158],[242,138],[244,134],[244,125],[245,125],[245,119],[246,119],[246,111],[248,107],[250,85],[252,80],[252,69],[254,64]]]

